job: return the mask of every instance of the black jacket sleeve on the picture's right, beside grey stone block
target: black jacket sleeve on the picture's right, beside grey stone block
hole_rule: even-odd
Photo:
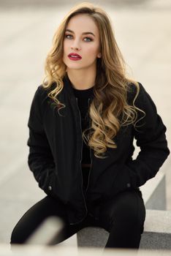
[[[140,92],[135,100],[135,105],[145,112],[145,116],[138,111],[140,121],[133,128],[140,153],[137,159],[129,160],[125,166],[129,172],[131,187],[140,187],[148,179],[156,176],[159,168],[170,154],[165,136],[166,127],[157,113],[156,105],[142,84],[139,83],[139,86]]]

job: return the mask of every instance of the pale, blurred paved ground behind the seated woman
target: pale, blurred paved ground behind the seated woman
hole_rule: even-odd
[[[41,1],[40,6],[37,0],[35,6],[33,1],[29,6],[28,1],[18,0],[14,6],[13,1],[5,2],[1,1],[0,10],[0,243],[9,243],[18,219],[45,195],[27,166],[28,113],[34,91],[42,83],[53,33],[75,4],[57,1],[55,5],[52,1],[47,5],[47,1]],[[132,75],[156,102],[170,143],[170,1],[98,2],[111,17],[115,37]],[[163,169],[167,171],[167,208],[171,209],[170,158]]]

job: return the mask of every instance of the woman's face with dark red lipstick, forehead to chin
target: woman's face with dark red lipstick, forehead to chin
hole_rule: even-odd
[[[72,17],[66,26],[64,37],[63,61],[67,70],[94,68],[96,58],[101,57],[99,48],[99,29],[94,20],[86,14]],[[69,58],[70,53],[77,53],[81,58]]]

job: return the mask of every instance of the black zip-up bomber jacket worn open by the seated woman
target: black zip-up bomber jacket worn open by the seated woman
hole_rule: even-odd
[[[63,80],[64,89],[58,99],[65,108],[54,106],[42,86],[34,94],[28,119],[28,165],[39,187],[66,204],[68,221],[75,224],[81,222],[88,211],[94,214],[94,203],[102,203],[126,189],[137,189],[153,178],[170,151],[166,127],[151,97],[139,83],[135,105],[145,111],[145,117],[138,122],[137,129],[132,124],[121,127],[114,138],[117,148],[107,148],[107,158],[95,157],[91,149],[92,166],[88,187],[84,189],[80,110],[67,74]],[[130,105],[135,94],[136,86],[131,83],[127,94]],[[90,105],[92,100],[93,96],[89,99]],[[142,113],[138,111],[140,117]],[[136,159],[132,159],[134,138],[140,147]]]

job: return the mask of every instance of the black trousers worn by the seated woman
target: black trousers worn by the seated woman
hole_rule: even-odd
[[[101,203],[99,216],[87,215],[83,222],[69,225],[66,220],[66,206],[53,197],[46,196],[19,220],[12,231],[11,244],[24,244],[28,236],[34,232],[39,224],[50,216],[60,217],[64,223],[62,234],[56,238],[56,244],[64,241],[83,227],[103,227],[110,233],[105,248],[134,248],[140,246],[145,220],[145,206],[137,190],[121,192],[113,199]]]

